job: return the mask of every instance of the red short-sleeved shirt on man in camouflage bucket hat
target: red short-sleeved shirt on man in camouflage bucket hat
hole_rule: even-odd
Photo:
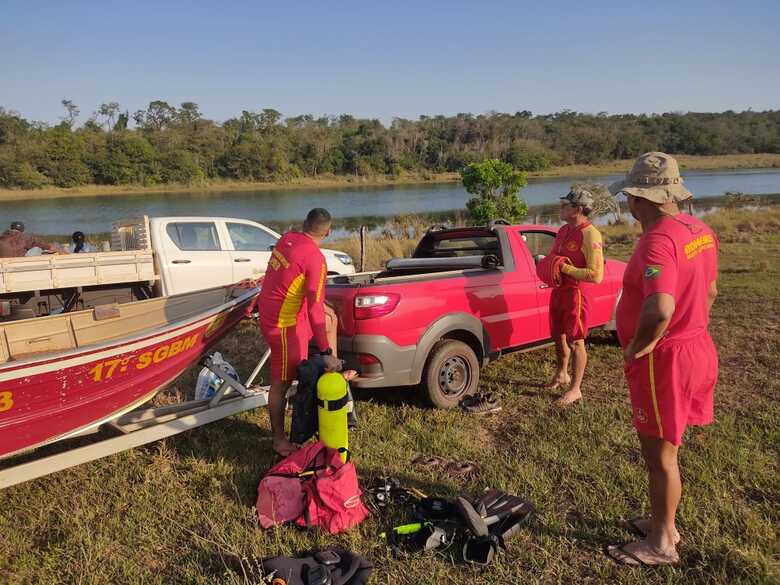
[[[647,297],[674,297],[674,314],[664,339],[700,335],[709,324],[708,292],[718,276],[718,239],[703,221],[679,213],[659,219],[642,234],[623,275],[623,296],[617,309],[620,344],[636,333]]]

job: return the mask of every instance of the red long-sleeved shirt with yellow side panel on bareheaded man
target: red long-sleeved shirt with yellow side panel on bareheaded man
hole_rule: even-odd
[[[311,327],[320,350],[325,334],[325,257],[306,234],[287,232],[274,246],[260,291],[260,321],[264,327]],[[301,309],[306,307],[306,310]],[[308,317],[308,318],[307,318]]]

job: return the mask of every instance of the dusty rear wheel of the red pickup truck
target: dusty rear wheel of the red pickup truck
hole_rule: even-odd
[[[423,371],[428,401],[437,408],[454,408],[479,386],[479,361],[468,345],[443,339],[433,346]]]

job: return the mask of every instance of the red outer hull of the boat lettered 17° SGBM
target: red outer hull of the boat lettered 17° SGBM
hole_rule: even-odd
[[[257,289],[154,332],[0,367],[0,458],[84,433],[151,399],[251,310]]]

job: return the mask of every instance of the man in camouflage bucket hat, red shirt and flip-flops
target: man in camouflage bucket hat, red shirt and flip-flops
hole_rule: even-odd
[[[627,565],[673,564],[680,540],[678,449],[688,425],[713,420],[718,355],[708,324],[717,295],[718,240],[704,222],[680,212],[677,204],[692,194],[668,154],[643,154],[610,191],[626,194],[642,225],[623,276],[617,329],[651,515],[629,522],[642,540],[610,546],[607,554]]]

